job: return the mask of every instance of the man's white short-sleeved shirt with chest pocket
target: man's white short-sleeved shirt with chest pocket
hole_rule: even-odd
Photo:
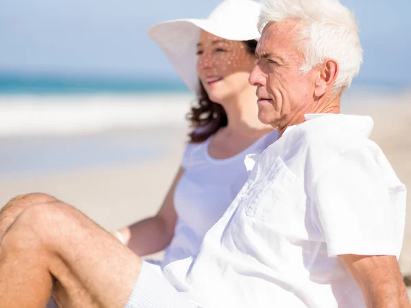
[[[256,162],[198,255],[164,276],[201,307],[361,308],[340,254],[401,251],[406,188],[366,116],[306,115]]]

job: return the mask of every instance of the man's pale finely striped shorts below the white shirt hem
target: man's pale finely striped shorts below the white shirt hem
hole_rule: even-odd
[[[142,261],[142,268],[125,308],[198,308],[167,281],[160,266]]]

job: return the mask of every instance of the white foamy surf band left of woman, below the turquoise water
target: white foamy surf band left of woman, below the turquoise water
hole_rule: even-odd
[[[0,136],[187,125],[190,94],[0,96]]]

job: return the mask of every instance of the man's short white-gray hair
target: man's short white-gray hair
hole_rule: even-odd
[[[301,73],[327,59],[339,64],[334,93],[349,87],[362,63],[362,48],[353,12],[338,0],[262,0],[258,29],[287,19],[301,21]]]

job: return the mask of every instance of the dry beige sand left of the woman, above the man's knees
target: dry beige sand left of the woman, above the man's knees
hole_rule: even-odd
[[[179,167],[186,129],[163,127],[114,133],[119,138],[124,134],[136,139],[144,134],[161,142],[164,153],[145,157],[142,162],[1,178],[0,204],[18,194],[46,192],[74,205],[108,230],[155,214]]]

